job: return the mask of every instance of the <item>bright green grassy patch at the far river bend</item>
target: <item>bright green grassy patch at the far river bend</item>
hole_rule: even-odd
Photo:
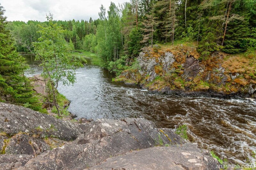
[[[102,61],[101,61],[100,57],[95,53],[91,53],[90,51],[76,50],[72,53],[72,55],[73,56],[83,56],[85,58],[90,58],[92,65],[97,65],[97,66],[102,65]]]

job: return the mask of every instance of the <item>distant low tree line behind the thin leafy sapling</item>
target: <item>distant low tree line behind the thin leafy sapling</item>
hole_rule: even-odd
[[[63,36],[65,40],[74,45],[74,49],[83,48],[83,40],[86,35],[95,34],[98,25],[98,20],[89,21],[54,21],[54,24],[61,26],[63,31]],[[28,21],[27,23],[23,21],[13,21],[9,22],[7,29],[12,33],[13,38],[16,40],[16,48],[20,52],[27,52],[28,48],[32,48],[32,42],[36,42],[41,36],[39,31],[42,27],[47,27],[49,25],[48,21]]]

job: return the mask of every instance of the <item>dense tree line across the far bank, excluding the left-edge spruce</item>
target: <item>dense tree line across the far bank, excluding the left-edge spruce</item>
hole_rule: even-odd
[[[156,43],[194,41],[207,57],[221,50],[235,54],[255,52],[256,0],[131,0],[100,6],[99,19],[54,21],[74,49],[96,52],[110,70],[141,48]],[[47,22],[15,21],[8,24],[19,51],[40,37]],[[122,61],[119,61],[122,60]],[[118,66],[119,64],[119,66]],[[122,64],[121,64],[122,65]]]

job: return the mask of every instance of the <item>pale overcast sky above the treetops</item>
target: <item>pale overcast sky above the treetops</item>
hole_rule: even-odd
[[[110,2],[128,2],[129,0],[0,0],[8,21],[38,20],[46,21],[49,11],[54,20],[97,19],[100,4],[108,10]]]

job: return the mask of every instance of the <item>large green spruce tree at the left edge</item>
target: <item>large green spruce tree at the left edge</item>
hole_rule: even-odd
[[[38,98],[24,71],[25,58],[14,48],[10,33],[6,31],[6,18],[0,4],[0,100],[40,110]]]

